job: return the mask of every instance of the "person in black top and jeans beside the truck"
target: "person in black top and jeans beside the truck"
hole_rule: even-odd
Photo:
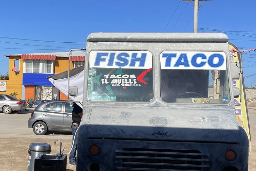
[[[76,166],[76,144],[77,144],[77,135],[75,136],[76,130],[79,127],[79,124],[81,122],[81,118],[83,116],[82,108],[78,106],[76,103],[73,104],[73,110],[72,110],[72,126],[71,131],[73,134],[72,138],[72,144],[74,142],[73,148],[69,154],[69,163],[70,166]],[[75,140],[74,140],[75,139]]]

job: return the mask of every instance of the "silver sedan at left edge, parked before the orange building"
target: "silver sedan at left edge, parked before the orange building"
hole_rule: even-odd
[[[0,111],[5,114],[12,111],[22,111],[26,108],[26,100],[19,100],[12,95],[0,94]]]

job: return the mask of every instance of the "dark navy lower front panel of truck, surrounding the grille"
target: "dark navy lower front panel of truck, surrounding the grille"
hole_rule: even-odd
[[[97,144],[98,155],[89,147]],[[248,171],[248,146],[225,143],[196,143],[170,141],[99,140],[78,137],[77,170],[91,171],[92,164],[100,170],[210,170],[222,171],[235,166]],[[234,161],[225,158],[225,152],[236,152]]]

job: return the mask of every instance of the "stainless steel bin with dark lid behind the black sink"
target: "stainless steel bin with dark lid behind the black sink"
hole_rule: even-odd
[[[50,144],[31,143],[28,148],[28,171],[34,171],[35,158],[42,153],[50,154]]]

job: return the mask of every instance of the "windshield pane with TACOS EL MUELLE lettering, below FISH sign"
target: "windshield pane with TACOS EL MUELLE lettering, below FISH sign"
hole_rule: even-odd
[[[148,102],[153,99],[153,71],[89,68],[87,98],[91,101]]]

